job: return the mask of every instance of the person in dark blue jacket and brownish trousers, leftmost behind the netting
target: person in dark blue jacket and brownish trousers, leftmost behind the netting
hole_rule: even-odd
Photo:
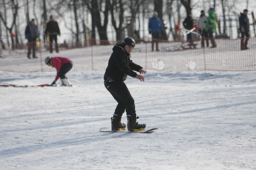
[[[25,30],[25,38],[28,42],[28,58],[30,59],[31,48],[33,50],[33,58],[37,58],[35,56],[35,45],[36,39],[39,38],[38,27],[35,25],[35,19],[32,19],[29,24],[26,26]]]

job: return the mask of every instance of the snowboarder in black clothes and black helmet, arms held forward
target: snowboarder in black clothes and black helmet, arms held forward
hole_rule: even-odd
[[[111,117],[111,130],[125,130],[125,124],[121,123],[125,110],[127,129],[129,131],[140,131],[146,127],[146,124],[136,122],[139,117],[136,116],[134,99],[124,83],[128,75],[144,81],[144,77],[136,72],[140,74],[147,73],[141,66],[130,60],[134,47],[135,41],[133,38],[126,37],[122,44],[114,45],[113,53],[108,60],[108,66],[104,75],[104,85],[118,103],[113,117]]]

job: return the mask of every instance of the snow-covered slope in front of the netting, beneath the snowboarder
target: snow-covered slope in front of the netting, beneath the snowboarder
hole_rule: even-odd
[[[0,87],[0,169],[256,169],[255,73],[149,70],[145,82],[127,78],[138,122],[158,128],[151,134],[99,131],[111,127],[117,104],[104,72],[71,71],[73,87]],[[54,76],[0,71],[0,82],[38,85]]]

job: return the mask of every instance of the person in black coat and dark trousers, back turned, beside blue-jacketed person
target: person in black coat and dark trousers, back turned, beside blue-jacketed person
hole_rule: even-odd
[[[60,30],[58,22],[53,18],[53,16],[50,16],[50,21],[47,22],[46,29],[45,29],[45,35],[49,33],[50,37],[50,53],[53,52],[53,40],[55,41],[55,50],[58,53],[58,43],[57,43],[57,35],[60,36]]]

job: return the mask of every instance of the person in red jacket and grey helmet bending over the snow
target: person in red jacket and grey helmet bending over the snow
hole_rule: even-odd
[[[45,64],[48,66],[55,67],[57,70],[57,75],[55,80],[50,86],[56,86],[56,81],[60,78],[62,86],[72,86],[69,83],[68,78],[66,78],[66,73],[72,69],[73,63],[69,58],[64,57],[46,57],[44,60]]]

